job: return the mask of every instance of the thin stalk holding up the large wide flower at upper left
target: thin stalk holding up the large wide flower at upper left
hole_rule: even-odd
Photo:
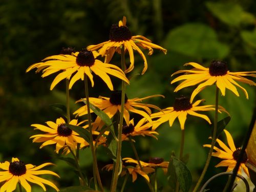
[[[95,184],[95,189],[98,190],[98,185],[103,191],[103,186],[101,184],[100,176],[99,176],[99,169],[97,165],[97,157],[95,153],[95,148],[93,144],[93,130],[92,130],[92,121],[91,121],[91,112],[90,112],[90,101],[89,101],[89,89],[88,89],[88,78],[87,75],[84,74],[84,87],[86,90],[86,101],[87,101],[87,114],[88,114],[88,124],[89,124],[89,132],[90,132],[90,148],[92,151],[92,156],[93,156],[93,178],[94,178],[94,184]]]

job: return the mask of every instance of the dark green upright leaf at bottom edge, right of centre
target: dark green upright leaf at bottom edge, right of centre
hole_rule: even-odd
[[[186,165],[174,156],[170,157],[168,166],[168,182],[170,186],[175,189],[176,181],[183,192],[187,192],[192,183],[192,176]]]

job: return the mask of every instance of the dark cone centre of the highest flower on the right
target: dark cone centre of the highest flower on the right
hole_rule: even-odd
[[[211,76],[223,76],[227,74],[227,71],[227,63],[225,61],[211,61],[209,67],[209,73]]]

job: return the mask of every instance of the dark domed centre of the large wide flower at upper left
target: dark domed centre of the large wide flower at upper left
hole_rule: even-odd
[[[80,51],[76,57],[76,63],[78,66],[88,66],[91,67],[94,65],[95,58],[91,51],[86,49]]]

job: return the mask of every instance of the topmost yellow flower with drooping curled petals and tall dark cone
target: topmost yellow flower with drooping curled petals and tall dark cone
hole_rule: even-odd
[[[144,69],[142,71],[142,74],[145,73],[147,70],[147,61],[146,57],[143,54],[143,52],[140,50],[139,47],[143,49],[148,49],[148,55],[153,54],[153,49],[160,49],[164,52],[164,54],[167,53],[166,49],[163,49],[162,47],[153,44],[150,39],[147,39],[146,37],[143,37],[141,35],[132,36],[131,31],[126,26],[126,17],[123,17],[123,20],[119,21],[119,24],[112,25],[110,29],[110,40],[102,42],[98,45],[91,45],[88,46],[87,49],[91,51],[98,50],[99,54],[101,56],[105,56],[105,62],[109,62],[111,58],[113,57],[115,52],[120,53],[121,49],[120,47],[124,46],[125,51],[127,50],[130,55],[130,61],[131,65],[130,67],[125,71],[126,73],[130,72],[134,68],[134,54],[133,50],[138,51],[140,56],[144,60]]]

